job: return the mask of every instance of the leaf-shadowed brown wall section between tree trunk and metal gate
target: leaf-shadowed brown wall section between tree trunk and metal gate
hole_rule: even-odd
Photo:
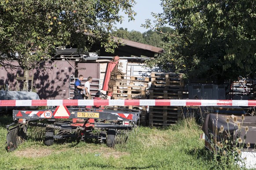
[[[67,99],[74,65],[73,61],[46,61],[34,69],[33,83],[40,99]]]

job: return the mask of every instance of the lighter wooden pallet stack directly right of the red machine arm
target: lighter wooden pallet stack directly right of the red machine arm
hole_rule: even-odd
[[[113,86],[113,99],[146,99],[149,78],[117,75],[116,85]],[[116,106],[117,107],[117,106]],[[146,106],[118,106],[130,110],[142,110],[140,124],[146,126]]]

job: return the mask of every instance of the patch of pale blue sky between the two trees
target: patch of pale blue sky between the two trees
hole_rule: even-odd
[[[148,31],[146,28],[140,27],[141,24],[145,24],[146,19],[151,19],[154,21],[154,17],[152,17],[151,12],[161,13],[163,12],[162,7],[160,6],[161,0],[136,0],[135,6],[133,10],[137,13],[134,17],[135,21],[128,22],[128,17],[121,13],[124,16],[124,21],[122,24],[118,23],[116,27],[119,28],[127,28],[128,31],[139,31],[141,33]]]

